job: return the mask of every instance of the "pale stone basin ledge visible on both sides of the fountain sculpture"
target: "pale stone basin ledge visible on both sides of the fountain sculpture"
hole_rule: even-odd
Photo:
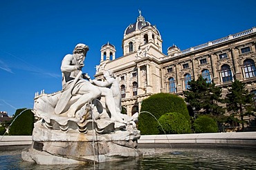
[[[0,136],[2,138],[2,136]],[[143,145],[183,145],[198,146],[237,146],[256,148],[256,131],[229,132],[210,134],[173,134],[173,135],[142,135],[138,140],[138,147]],[[3,136],[0,146],[31,145],[32,136]]]

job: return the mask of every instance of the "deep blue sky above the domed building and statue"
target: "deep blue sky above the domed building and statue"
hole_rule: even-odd
[[[77,43],[90,47],[83,72],[91,77],[102,45],[109,41],[122,56],[138,9],[161,33],[164,54],[172,44],[185,50],[256,26],[255,0],[1,0],[0,111],[12,116],[33,108],[35,92],[61,90],[62,58]]]

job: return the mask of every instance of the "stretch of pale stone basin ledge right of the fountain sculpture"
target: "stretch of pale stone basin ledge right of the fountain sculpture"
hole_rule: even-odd
[[[256,148],[256,132],[142,135],[138,147]]]

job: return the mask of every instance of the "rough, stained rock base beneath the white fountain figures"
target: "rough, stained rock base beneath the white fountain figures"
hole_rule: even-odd
[[[116,126],[116,125],[115,125]],[[136,147],[140,131],[127,126],[109,134],[97,134],[88,130],[86,134],[69,129],[46,129],[38,121],[33,131],[33,144],[22,151],[21,157],[37,164],[84,164],[107,162],[142,156]]]

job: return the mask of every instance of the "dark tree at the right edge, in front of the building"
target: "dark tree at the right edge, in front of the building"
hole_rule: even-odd
[[[228,89],[228,94],[226,95],[225,100],[226,109],[232,111],[230,119],[235,120],[237,123],[241,123],[242,129],[244,129],[244,116],[254,116],[253,94],[250,94],[248,89],[245,89],[244,83],[235,80]]]

